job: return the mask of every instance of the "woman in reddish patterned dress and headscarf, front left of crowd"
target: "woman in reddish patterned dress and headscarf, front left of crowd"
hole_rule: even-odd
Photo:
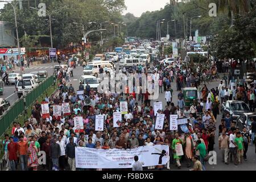
[[[35,146],[35,142],[31,141],[30,146],[28,147],[28,161],[27,166],[28,168],[33,168],[33,171],[37,171],[38,169],[38,148]]]

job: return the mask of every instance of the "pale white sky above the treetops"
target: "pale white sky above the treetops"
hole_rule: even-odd
[[[123,14],[132,13],[134,16],[139,17],[146,11],[155,11],[164,8],[166,3],[170,3],[170,0],[125,0],[127,10]]]

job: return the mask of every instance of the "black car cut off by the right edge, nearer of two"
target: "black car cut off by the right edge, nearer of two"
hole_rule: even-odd
[[[240,117],[237,118],[237,127],[239,128],[240,131],[242,131],[243,126],[246,126],[247,130],[250,131],[251,127],[251,118],[256,121],[256,112],[254,113],[244,113],[241,114]]]

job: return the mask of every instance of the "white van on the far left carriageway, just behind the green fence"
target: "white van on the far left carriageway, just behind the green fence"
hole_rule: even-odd
[[[22,86],[24,86],[24,91],[26,93],[28,93],[32,89],[34,89],[36,86],[38,86],[38,83],[35,81],[35,79],[23,79],[23,80],[18,81],[17,87],[16,87],[16,92],[17,92],[19,98],[23,95]]]

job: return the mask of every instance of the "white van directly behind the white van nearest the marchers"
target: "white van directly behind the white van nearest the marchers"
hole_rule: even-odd
[[[112,62],[113,63],[113,62]],[[114,67],[111,63],[108,61],[94,61],[89,62],[86,67],[84,67],[84,75],[93,75],[95,77],[98,77],[100,74],[100,68],[105,68],[105,66],[108,68],[108,72],[113,71]]]

